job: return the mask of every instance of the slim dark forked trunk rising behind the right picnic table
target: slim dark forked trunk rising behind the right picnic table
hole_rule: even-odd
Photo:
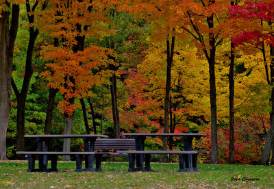
[[[169,37],[169,36],[168,36]],[[169,39],[166,40],[166,92],[164,94],[164,133],[169,132],[169,108],[171,102],[169,101],[170,91],[171,91],[171,66],[173,62],[174,55],[174,45],[175,45],[175,37],[172,36],[171,47]],[[167,150],[167,137],[163,137],[162,150]],[[167,155],[162,155],[162,162],[167,162]]]

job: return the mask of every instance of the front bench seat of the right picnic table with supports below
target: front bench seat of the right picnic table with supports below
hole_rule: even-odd
[[[117,151],[121,153],[121,151]],[[132,171],[151,171],[150,159],[151,154],[178,154],[179,155],[179,172],[198,171],[197,169],[197,155],[199,153],[209,153],[208,151],[123,151],[129,156],[129,172]],[[145,167],[135,168],[136,154],[145,155]],[[186,163],[188,162],[188,163]]]

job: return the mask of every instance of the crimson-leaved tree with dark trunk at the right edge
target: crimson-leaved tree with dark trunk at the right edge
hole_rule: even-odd
[[[274,15],[274,2],[273,1],[245,1],[244,5],[234,6],[231,10],[232,15],[236,18],[245,18],[248,21],[254,22],[265,22],[266,27],[258,27],[253,30],[246,30],[242,32],[241,36],[235,38],[235,42],[242,44],[243,42],[250,42],[251,44],[260,45],[262,51],[264,51],[264,42],[269,45],[269,53],[271,56],[270,63],[270,79],[266,77],[267,82],[270,82],[271,86],[271,112],[270,112],[270,121],[271,127],[266,134],[266,142],[264,144],[264,151],[262,153],[261,164],[269,164],[269,157],[271,154],[271,147],[273,144],[274,138],[274,88],[273,88],[273,77],[274,77],[274,37],[273,37],[273,15]],[[265,60],[265,59],[264,59]],[[265,61],[264,61],[265,64]],[[266,64],[267,65],[267,64]],[[266,67],[267,68],[267,67]],[[266,70],[266,76],[268,75]],[[270,81],[269,81],[270,80]]]

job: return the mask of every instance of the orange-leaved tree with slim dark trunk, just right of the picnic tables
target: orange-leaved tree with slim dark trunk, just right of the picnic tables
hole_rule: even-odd
[[[215,59],[216,48],[221,45],[223,38],[220,34],[222,28],[219,23],[223,21],[221,16],[230,1],[187,1],[179,5],[179,18],[182,18],[182,29],[187,31],[194,39],[197,47],[203,51],[208,60],[210,73],[210,112],[211,112],[211,142],[212,163],[218,164],[217,145],[217,105],[216,105],[216,77]],[[220,15],[221,14],[221,15]]]

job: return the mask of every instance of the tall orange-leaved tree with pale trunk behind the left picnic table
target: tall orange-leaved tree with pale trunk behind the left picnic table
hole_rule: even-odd
[[[86,38],[102,38],[111,32],[103,22],[106,10],[101,1],[49,1],[50,8],[39,14],[38,27],[52,38],[60,38],[59,47],[47,45],[43,59],[50,60],[49,71],[42,73],[51,88],[62,92],[64,101],[58,108],[64,113],[64,133],[71,134],[75,98],[83,99],[92,94],[94,85],[105,83],[107,71],[99,68],[108,64],[108,56],[115,56],[109,49],[86,44]],[[57,21],[57,22],[56,22]],[[43,24],[42,24],[43,23]],[[70,151],[70,140],[64,140],[64,151]],[[69,157],[63,156],[63,160]]]

